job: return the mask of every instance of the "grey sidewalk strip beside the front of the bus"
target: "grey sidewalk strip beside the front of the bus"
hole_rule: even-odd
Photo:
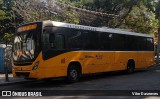
[[[23,84],[26,82],[31,82],[30,80],[25,80],[24,78],[13,78],[12,74],[8,74],[9,81],[5,81],[5,74],[0,74],[0,86]]]

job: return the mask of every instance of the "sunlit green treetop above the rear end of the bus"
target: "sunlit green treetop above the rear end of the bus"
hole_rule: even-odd
[[[147,34],[155,33],[157,31],[158,20],[155,19],[153,12],[147,10],[144,5],[134,7],[120,28]]]

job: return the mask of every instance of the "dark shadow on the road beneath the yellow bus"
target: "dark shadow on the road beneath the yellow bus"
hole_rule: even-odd
[[[90,75],[84,75],[78,83],[81,82],[88,82],[92,80],[100,80],[100,79],[110,79],[113,77],[119,77],[119,76],[132,76],[139,73],[148,72],[148,70],[138,70],[135,71],[132,74],[126,74],[124,71],[118,71],[118,72],[107,72],[107,73],[98,73],[98,74],[90,74]],[[76,84],[76,83],[75,83]],[[19,88],[26,88],[28,89],[47,89],[47,88],[61,88],[66,85],[72,85],[71,83],[67,83],[65,78],[56,78],[56,79],[45,79],[45,80],[37,80],[32,83],[22,84],[19,85],[21,87]]]

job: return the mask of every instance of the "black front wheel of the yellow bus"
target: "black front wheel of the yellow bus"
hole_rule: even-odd
[[[80,78],[80,69],[74,65],[68,67],[67,81],[69,83],[77,82]]]

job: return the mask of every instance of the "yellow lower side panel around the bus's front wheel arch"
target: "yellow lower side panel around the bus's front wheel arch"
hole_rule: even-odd
[[[83,56],[81,52],[66,52],[43,60],[41,63],[43,78],[67,76],[67,69],[71,62],[79,62],[83,66]]]

